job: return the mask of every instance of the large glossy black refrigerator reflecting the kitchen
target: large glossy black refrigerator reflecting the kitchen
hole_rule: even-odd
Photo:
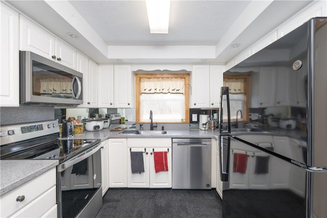
[[[248,92],[225,85],[220,94],[223,217],[326,218],[327,18],[308,20],[224,79],[242,75]],[[258,114],[244,120],[244,111]]]

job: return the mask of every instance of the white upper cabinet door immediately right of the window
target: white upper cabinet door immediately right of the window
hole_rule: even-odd
[[[193,65],[191,72],[190,108],[210,107],[210,66]]]

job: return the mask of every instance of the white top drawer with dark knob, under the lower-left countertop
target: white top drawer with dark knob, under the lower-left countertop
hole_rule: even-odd
[[[54,185],[56,185],[56,167],[5,193],[1,197],[0,217],[7,217],[15,213]],[[16,201],[18,196],[23,195],[25,196],[24,201]]]

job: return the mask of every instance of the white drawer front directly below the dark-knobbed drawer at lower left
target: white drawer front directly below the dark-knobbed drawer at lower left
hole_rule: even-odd
[[[56,186],[53,186],[11,217],[43,217],[43,214],[52,209],[56,202]]]

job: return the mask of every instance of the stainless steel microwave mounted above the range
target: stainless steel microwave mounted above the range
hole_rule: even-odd
[[[83,104],[83,74],[29,51],[19,52],[20,104]]]

